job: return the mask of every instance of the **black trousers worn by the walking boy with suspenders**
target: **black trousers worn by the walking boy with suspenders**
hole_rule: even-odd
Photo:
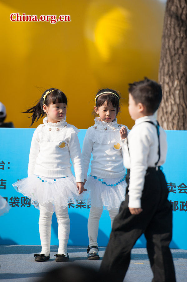
[[[127,194],[115,217],[100,270],[115,274],[123,281],[130,263],[131,249],[142,233],[153,271],[152,282],[174,282],[175,269],[169,249],[172,238],[172,208],[167,200],[168,188],[160,169],[148,168],[141,197],[143,211],[133,215],[128,209],[130,170],[127,170]]]

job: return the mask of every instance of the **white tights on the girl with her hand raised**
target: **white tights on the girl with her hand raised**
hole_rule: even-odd
[[[115,216],[118,214],[119,209],[109,209],[109,216],[111,220],[111,226],[113,224],[113,220]],[[88,237],[89,237],[89,247],[97,246],[97,237],[98,237],[98,229],[99,229],[99,219],[103,209],[96,208],[91,205],[89,219],[88,219]]]

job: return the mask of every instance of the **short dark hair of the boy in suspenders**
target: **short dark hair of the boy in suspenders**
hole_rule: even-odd
[[[161,85],[156,81],[144,78],[144,80],[129,83],[129,93],[135,103],[142,103],[146,106],[147,113],[155,113],[162,99]]]

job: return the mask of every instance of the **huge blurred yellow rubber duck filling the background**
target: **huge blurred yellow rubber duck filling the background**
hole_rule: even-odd
[[[68,97],[67,122],[88,128],[93,124],[94,94],[109,87],[124,98],[118,122],[131,128],[127,84],[158,77],[161,1],[3,0],[0,8],[1,102],[7,107],[7,121],[29,127],[31,121],[21,111],[44,89],[55,87]],[[70,15],[71,22],[11,22],[11,13]]]

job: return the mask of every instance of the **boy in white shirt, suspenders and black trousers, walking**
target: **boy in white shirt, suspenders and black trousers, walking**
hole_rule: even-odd
[[[169,244],[172,238],[172,208],[160,166],[165,162],[166,134],[154,118],[162,98],[161,86],[145,78],[129,84],[129,113],[135,125],[124,138],[123,161],[127,168],[127,194],[113,222],[102,270],[123,281],[130,263],[131,249],[142,233],[154,282],[175,282]]]

